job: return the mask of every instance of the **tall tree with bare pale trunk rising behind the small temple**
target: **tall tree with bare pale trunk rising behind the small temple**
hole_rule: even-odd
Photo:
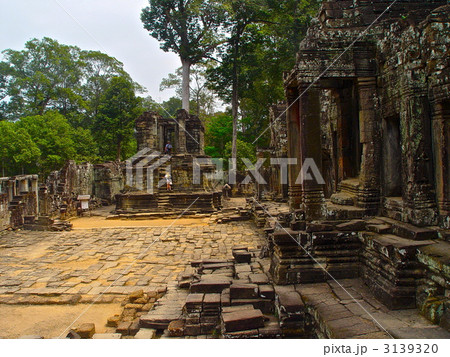
[[[149,0],[141,13],[144,28],[161,49],[178,54],[182,64],[182,108],[189,112],[191,66],[213,54],[222,41],[225,12],[219,1]]]

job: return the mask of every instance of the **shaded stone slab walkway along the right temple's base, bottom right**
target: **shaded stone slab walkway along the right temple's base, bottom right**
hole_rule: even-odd
[[[389,310],[361,279],[341,279],[338,283],[282,287],[295,289],[302,296],[321,338],[450,338],[449,332],[433,325],[416,309]]]

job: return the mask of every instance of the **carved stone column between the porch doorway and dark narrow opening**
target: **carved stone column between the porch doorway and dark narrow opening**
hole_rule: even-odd
[[[357,79],[359,100],[359,133],[363,144],[359,175],[359,207],[369,214],[377,214],[380,207],[381,187],[381,132],[377,108],[375,77]]]

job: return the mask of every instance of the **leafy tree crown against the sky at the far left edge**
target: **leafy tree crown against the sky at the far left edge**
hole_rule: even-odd
[[[45,37],[28,41],[22,51],[3,51],[3,116],[17,119],[42,115],[48,108],[67,113],[82,105],[79,93],[82,67],[80,49]],[[0,97],[0,100],[2,98]]]

